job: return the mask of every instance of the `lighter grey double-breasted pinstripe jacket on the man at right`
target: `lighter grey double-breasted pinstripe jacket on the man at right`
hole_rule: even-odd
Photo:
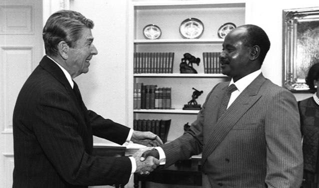
[[[208,94],[191,131],[162,146],[165,165],[203,151],[203,187],[299,187],[303,155],[294,95],[260,74],[217,120],[228,84]]]

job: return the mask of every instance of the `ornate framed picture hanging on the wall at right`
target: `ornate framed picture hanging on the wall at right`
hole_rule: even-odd
[[[283,10],[283,46],[283,85],[307,92],[305,78],[319,59],[319,7]]]

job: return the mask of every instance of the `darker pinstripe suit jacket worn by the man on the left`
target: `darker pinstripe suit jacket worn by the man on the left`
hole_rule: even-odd
[[[62,70],[44,56],[13,112],[13,187],[126,184],[128,157],[92,156],[92,134],[122,144],[129,128],[87,110]]]

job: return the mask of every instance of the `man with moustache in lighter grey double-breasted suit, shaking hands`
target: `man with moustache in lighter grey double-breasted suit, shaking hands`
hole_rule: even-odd
[[[297,101],[263,76],[260,68],[269,48],[267,34],[256,25],[232,30],[220,54],[222,73],[231,81],[208,93],[190,131],[145,156],[159,154],[166,167],[202,152],[203,187],[300,187]]]

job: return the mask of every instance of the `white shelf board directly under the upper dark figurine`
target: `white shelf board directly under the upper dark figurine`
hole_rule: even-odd
[[[135,73],[134,77],[227,77],[222,73]]]

